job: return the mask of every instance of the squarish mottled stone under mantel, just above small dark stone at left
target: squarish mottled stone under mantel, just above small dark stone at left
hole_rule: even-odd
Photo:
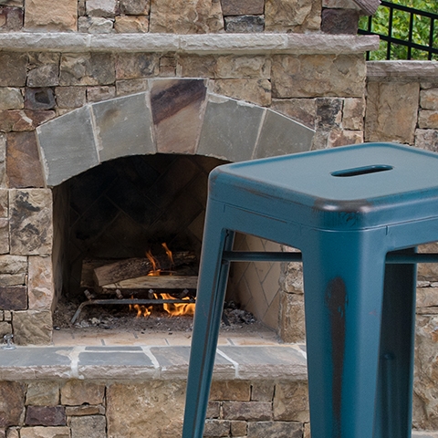
[[[29,54],[27,87],[55,87],[59,81],[59,54]]]

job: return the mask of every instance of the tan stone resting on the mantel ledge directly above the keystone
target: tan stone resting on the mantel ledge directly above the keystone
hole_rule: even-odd
[[[151,0],[153,33],[205,34],[224,28],[220,0]]]

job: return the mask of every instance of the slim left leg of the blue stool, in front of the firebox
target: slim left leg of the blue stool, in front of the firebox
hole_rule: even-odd
[[[210,217],[214,218],[213,212]],[[222,254],[233,248],[235,235],[231,231],[214,227],[212,224],[214,221],[217,219],[214,218],[211,222],[205,221],[187,379],[183,438],[203,437],[229,272],[229,263],[222,261]]]

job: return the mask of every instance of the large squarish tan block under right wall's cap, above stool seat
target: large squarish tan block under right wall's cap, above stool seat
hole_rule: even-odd
[[[418,83],[370,82],[367,88],[365,141],[413,143]]]

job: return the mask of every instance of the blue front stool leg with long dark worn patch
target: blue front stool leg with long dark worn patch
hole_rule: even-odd
[[[373,436],[384,237],[315,231],[302,248],[312,438]]]

